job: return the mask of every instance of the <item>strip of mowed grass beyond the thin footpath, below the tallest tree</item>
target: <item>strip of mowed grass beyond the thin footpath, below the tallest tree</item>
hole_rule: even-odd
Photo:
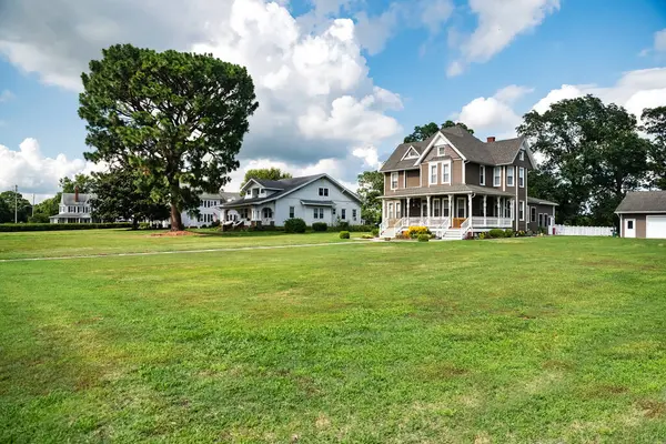
[[[191,230],[195,235],[159,236],[167,231],[82,230],[0,233],[0,260],[147,253],[254,245],[339,242],[339,233],[229,232]],[[353,233],[355,238],[362,233]]]

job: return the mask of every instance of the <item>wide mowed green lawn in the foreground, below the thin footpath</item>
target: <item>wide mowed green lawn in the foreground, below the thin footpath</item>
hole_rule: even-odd
[[[0,263],[0,442],[666,437],[666,242],[350,242]]]

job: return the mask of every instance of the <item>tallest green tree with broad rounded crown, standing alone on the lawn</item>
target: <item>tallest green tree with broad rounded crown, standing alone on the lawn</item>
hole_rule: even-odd
[[[131,44],[102,51],[81,75],[79,115],[88,121],[85,159],[138,171],[155,203],[167,200],[171,229],[218,192],[259,103],[248,71],[210,54],[157,52]]]

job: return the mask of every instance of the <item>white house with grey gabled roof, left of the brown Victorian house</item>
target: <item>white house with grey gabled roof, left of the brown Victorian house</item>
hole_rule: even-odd
[[[329,174],[278,181],[251,179],[241,192],[242,199],[220,205],[222,220],[275,226],[292,218],[303,219],[307,225],[362,223],[359,196]]]

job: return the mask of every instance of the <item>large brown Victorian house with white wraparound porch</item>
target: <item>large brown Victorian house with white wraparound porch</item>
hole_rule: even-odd
[[[380,170],[381,235],[393,238],[414,225],[448,239],[549,226],[556,204],[528,198],[527,171],[534,165],[523,138],[483,142],[461,127],[402,143]]]

